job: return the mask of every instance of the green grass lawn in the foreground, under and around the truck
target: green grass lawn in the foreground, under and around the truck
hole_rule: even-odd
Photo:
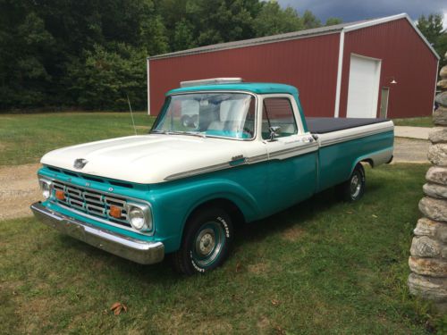
[[[0,332],[428,333],[446,320],[407,288],[426,169],[367,169],[356,204],[328,190],[247,225],[229,261],[195,277],[168,262],[133,264],[33,218],[0,222]],[[117,301],[127,313],[110,312]]]

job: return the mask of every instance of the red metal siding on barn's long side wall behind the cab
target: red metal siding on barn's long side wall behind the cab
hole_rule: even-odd
[[[182,80],[241,77],[299,88],[309,116],[332,116],[340,34],[150,60],[150,113]]]

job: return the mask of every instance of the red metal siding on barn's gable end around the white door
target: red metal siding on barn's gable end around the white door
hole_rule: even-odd
[[[350,54],[382,60],[377,115],[382,88],[390,88],[388,117],[433,113],[437,60],[406,19],[347,32],[344,40],[340,116],[346,116]],[[392,77],[397,84],[390,84]]]

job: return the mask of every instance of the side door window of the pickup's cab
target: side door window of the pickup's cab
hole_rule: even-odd
[[[291,100],[287,97],[264,99],[262,112],[262,138],[270,138],[270,127],[281,127],[279,138],[298,133]]]

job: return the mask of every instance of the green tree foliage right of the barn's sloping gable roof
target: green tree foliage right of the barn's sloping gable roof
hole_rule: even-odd
[[[443,15],[430,14],[419,16],[417,28],[424,34],[428,42],[434,47],[436,53],[441,57],[440,68],[447,64],[445,53],[447,52],[447,31],[443,29]]]

